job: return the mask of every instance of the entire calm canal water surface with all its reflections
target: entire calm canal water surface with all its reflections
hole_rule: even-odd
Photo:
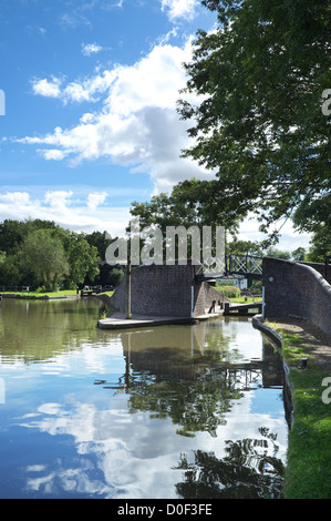
[[[0,304],[0,498],[281,498],[282,361],[249,318],[123,331]]]

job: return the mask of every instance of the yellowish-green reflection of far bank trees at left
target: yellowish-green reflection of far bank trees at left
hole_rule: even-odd
[[[96,338],[102,303],[74,300],[3,299],[0,354],[9,360],[44,360],[86,339]]]

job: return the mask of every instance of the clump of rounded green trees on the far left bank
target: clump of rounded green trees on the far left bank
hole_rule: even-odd
[[[94,245],[96,238],[100,251]],[[108,284],[104,278],[110,269],[101,277],[96,264],[104,258],[105,247],[105,234],[99,232],[89,236],[52,221],[6,219],[0,223],[0,284],[46,290]]]

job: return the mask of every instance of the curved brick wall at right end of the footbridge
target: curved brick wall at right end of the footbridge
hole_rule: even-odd
[[[294,315],[331,335],[331,286],[311,265],[265,257],[263,287],[266,318]]]

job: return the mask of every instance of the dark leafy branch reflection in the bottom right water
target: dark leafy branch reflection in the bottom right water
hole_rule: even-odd
[[[269,429],[259,431],[261,439],[227,440],[223,459],[197,450],[189,463],[180,454],[176,469],[184,471],[184,481],[176,484],[177,493],[184,499],[280,499],[285,467],[276,457],[277,436]]]

